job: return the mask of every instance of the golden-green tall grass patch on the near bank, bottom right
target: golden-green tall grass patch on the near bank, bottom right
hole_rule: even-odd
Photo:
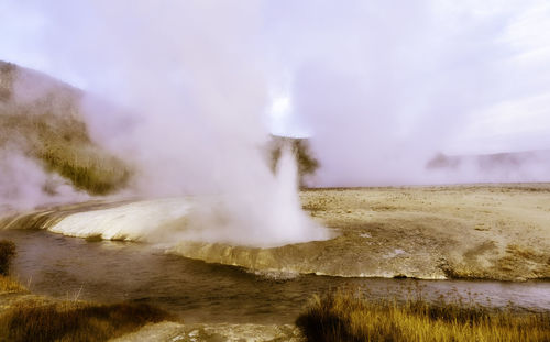
[[[398,305],[352,291],[315,296],[296,320],[307,341],[550,341],[550,313],[422,299]]]

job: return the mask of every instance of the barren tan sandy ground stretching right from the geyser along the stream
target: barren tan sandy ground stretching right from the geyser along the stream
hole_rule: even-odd
[[[266,273],[550,278],[550,185],[316,189],[304,209],[336,238],[276,249],[184,243],[173,253]]]

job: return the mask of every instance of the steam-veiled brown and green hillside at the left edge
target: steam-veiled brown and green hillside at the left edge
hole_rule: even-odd
[[[123,188],[131,169],[90,139],[79,112],[82,96],[46,75],[0,62],[0,169],[18,153],[90,195]],[[47,185],[44,190],[55,191]]]

